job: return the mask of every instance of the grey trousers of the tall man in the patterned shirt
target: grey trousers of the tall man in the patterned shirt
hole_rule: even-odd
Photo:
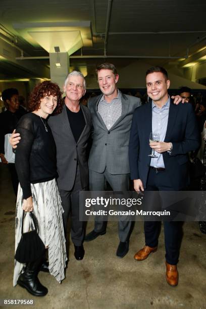
[[[129,174],[112,175],[107,171],[107,168],[104,173],[97,173],[89,170],[89,189],[91,191],[104,191],[106,189],[106,181],[110,184],[113,191],[129,190]],[[118,221],[120,241],[125,242],[129,239],[131,224],[131,221]],[[95,220],[95,232],[105,232],[106,228],[106,221]]]

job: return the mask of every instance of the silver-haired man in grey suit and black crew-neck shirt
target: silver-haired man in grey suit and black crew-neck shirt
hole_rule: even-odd
[[[61,114],[52,116],[48,124],[52,129],[57,147],[58,187],[64,209],[65,236],[71,213],[71,238],[75,247],[75,258],[84,257],[84,222],[79,221],[79,192],[88,187],[88,167],[86,158],[87,140],[91,131],[91,114],[81,105],[80,99],[86,92],[86,82],[82,73],[73,71],[66,80],[65,104]],[[19,134],[13,134],[11,144],[15,148]],[[16,138],[15,138],[16,137]]]

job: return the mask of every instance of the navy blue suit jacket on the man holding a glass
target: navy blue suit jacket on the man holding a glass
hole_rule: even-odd
[[[135,110],[129,140],[129,164],[131,179],[141,179],[146,188],[150,165],[149,134],[152,132],[151,102]],[[188,152],[199,146],[197,123],[189,103],[174,105],[170,100],[165,142],[172,142],[171,154],[163,153],[165,177],[171,179],[174,190],[189,184]]]

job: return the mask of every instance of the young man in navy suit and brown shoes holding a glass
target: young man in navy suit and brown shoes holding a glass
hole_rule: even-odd
[[[195,115],[190,104],[174,105],[168,95],[170,80],[162,67],[146,72],[147,94],[151,101],[136,109],[129,141],[131,179],[136,191],[176,191],[189,184],[188,152],[199,145]],[[160,141],[149,142],[150,132],[160,134]],[[148,157],[151,148],[156,158]],[[161,222],[144,222],[145,246],[135,255],[143,261],[158,248]],[[178,284],[180,224],[164,222],[166,279]]]

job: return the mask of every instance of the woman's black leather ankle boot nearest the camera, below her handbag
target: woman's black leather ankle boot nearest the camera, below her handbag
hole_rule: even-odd
[[[47,288],[40,283],[37,277],[41,261],[42,259],[39,259],[33,263],[27,263],[24,273],[17,281],[21,287],[35,296],[45,296],[48,293]]]

